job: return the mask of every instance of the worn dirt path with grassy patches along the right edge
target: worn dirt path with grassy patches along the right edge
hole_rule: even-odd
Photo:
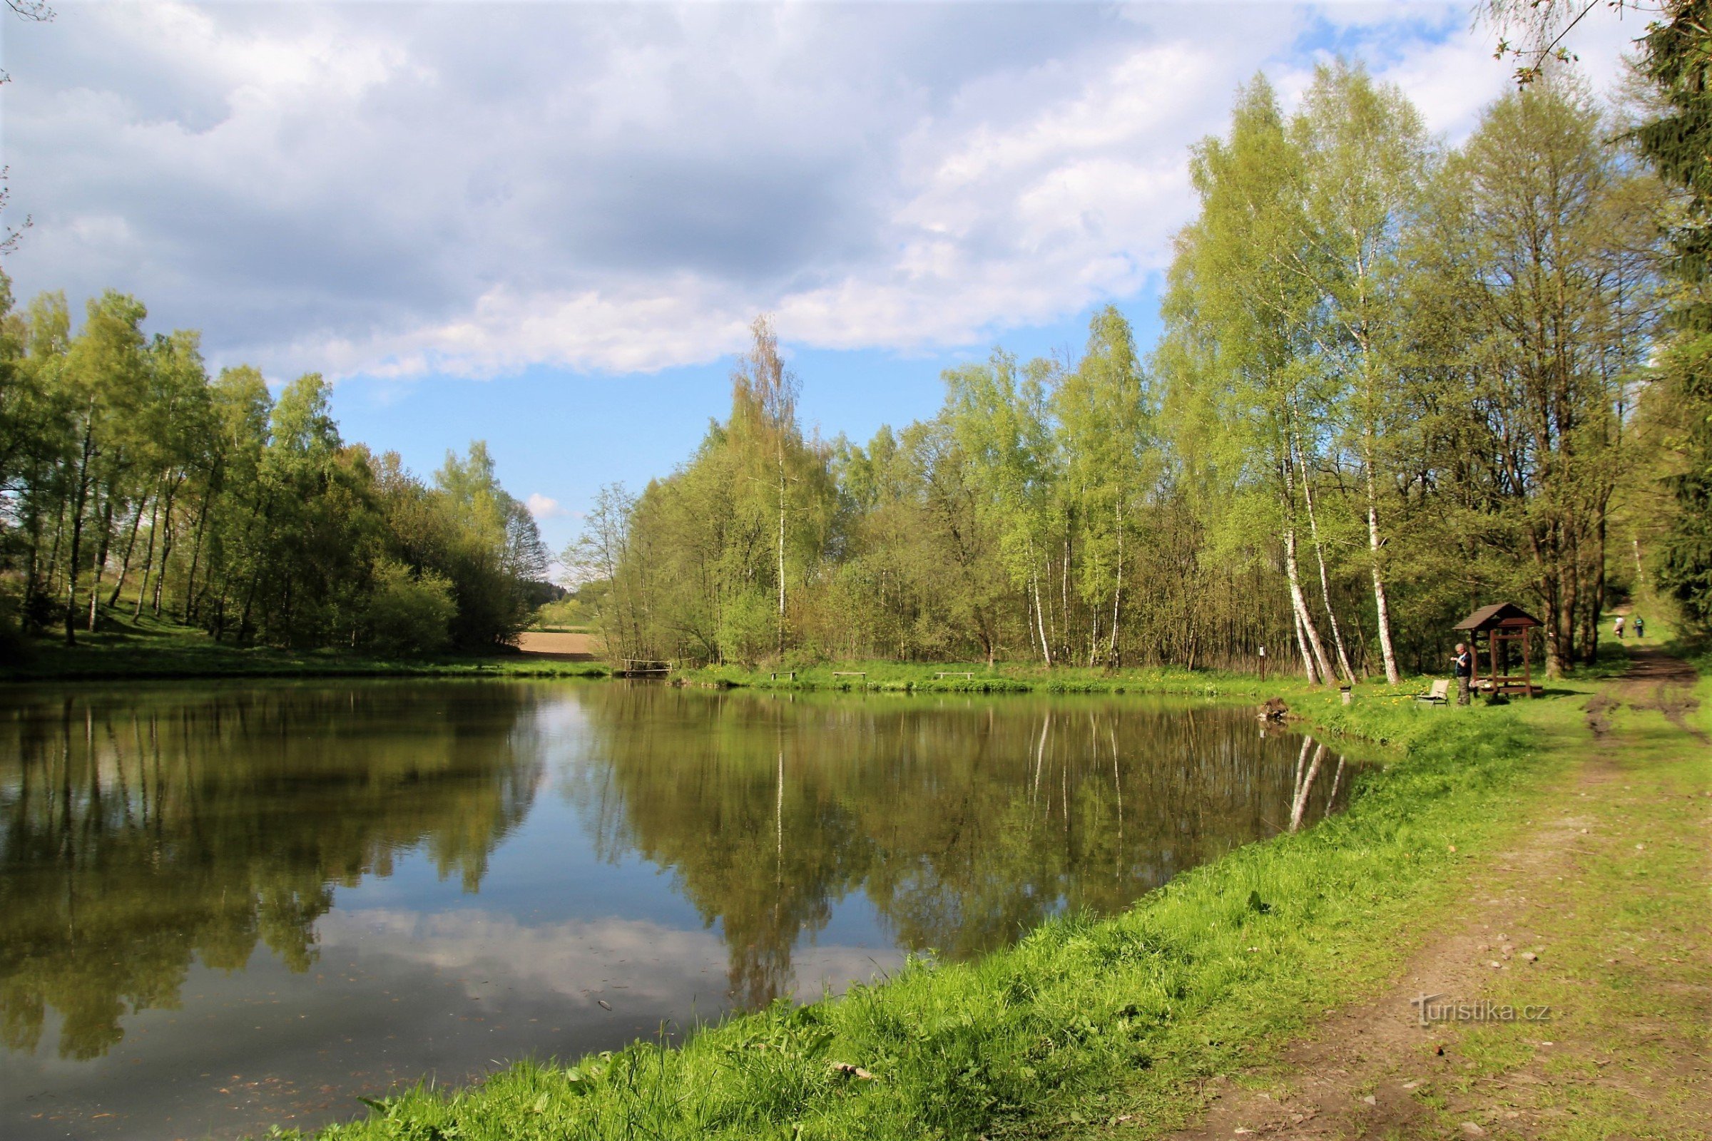
[[[1686,722],[1695,681],[1635,652],[1563,742],[1582,754],[1573,778],[1395,985],[1209,1090],[1200,1126],[1173,1136],[1712,1138],[1712,761]],[[1423,1025],[1423,999],[1498,1020]]]

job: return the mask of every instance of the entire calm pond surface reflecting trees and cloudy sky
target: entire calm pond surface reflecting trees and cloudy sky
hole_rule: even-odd
[[[0,689],[0,1136],[351,1117],[1113,912],[1346,789],[1142,698]]]

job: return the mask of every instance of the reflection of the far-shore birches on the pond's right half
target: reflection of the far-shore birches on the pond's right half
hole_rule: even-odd
[[[722,927],[743,1006],[791,989],[793,946],[854,891],[899,946],[971,958],[1063,910],[1116,912],[1335,795],[1323,746],[1231,708],[639,684],[587,691],[584,713],[586,826]]]

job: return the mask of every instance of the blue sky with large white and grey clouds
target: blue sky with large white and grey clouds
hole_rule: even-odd
[[[322,373],[419,474],[486,440],[553,549],[726,416],[757,313],[863,441],[1097,306],[1152,344],[1188,151],[1257,72],[1289,103],[1344,55],[1455,144],[1513,70],[1467,0],[53,7],[0,22],[14,293]],[[1596,12],[1575,67],[1642,31]]]

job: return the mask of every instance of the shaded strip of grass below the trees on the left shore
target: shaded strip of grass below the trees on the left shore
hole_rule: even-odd
[[[103,612],[96,633],[77,631],[77,645],[33,638],[21,660],[0,662],[0,681],[123,681],[140,677],[594,677],[597,662],[555,662],[520,653],[483,657],[380,659],[337,650],[281,650],[214,641],[195,626],[149,614],[132,619]]]

